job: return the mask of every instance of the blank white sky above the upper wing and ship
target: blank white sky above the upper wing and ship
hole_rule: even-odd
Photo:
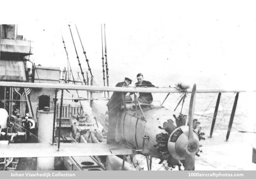
[[[31,59],[36,64],[61,69],[67,64],[63,34],[72,68],[79,67],[70,24],[87,69],[76,24],[91,68],[102,69],[101,23],[105,23],[112,73],[122,71],[132,78],[137,72],[214,76],[251,84],[256,73],[254,7],[253,1],[218,0],[17,1],[12,11],[3,10],[9,16],[1,23],[17,23],[18,34],[34,41]]]

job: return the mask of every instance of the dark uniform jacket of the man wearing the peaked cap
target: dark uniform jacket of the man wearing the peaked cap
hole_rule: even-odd
[[[123,87],[123,86],[127,86],[127,84],[125,82],[120,82],[118,84],[116,84],[116,87]],[[113,92],[109,102],[106,104],[110,109],[113,108],[113,110],[119,110],[122,106],[122,93],[124,94],[124,96],[126,95],[126,92]]]

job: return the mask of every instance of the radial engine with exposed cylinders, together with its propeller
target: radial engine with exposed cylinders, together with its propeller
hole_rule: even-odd
[[[195,170],[195,155],[199,151],[199,140],[203,133],[196,133],[194,129],[200,124],[197,119],[193,119],[196,102],[196,84],[194,84],[188,113],[188,125],[186,125],[186,115],[180,114],[179,117],[173,115],[176,121],[176,126],[172,119],[163,123],[163,127],[159,129],[165,130],[166,133],[156,135],[157,152],[160,163],[167,160],[168,166],[175,167],[175,165],[184,165],[185,170]]]

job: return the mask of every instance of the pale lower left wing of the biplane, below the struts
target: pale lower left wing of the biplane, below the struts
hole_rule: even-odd
[[[59,151],[56,145],[45,143],[0,145],[0,158],[5,157],[53,157],[53,156],[96,156],[137,154],[124,145],[96,143],[61,143]]]

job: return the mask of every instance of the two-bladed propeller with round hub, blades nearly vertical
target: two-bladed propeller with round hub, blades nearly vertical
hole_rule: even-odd
[[[193,85],[189,112],[188,112],[188,142],[186,144],[185,170],[195,170],[195,155],[199,148],[199,142],[193,132],[193,116],[196,104],[196,84]]]

